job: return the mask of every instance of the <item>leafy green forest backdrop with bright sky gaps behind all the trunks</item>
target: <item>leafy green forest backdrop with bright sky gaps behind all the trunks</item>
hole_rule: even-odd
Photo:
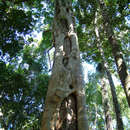
[[[104,3],[111,28],[118,41],[119,53],[123,55],[129,72],[130,4],[128,0],[104,0]],[[113,49],[106,35],[104,18],[98,5],[96,0],[73,0],[72,4],[81,63],[87,64],[83,73],[87,75],[85,92],[88,124],[90,130],[106,128],[102,92],[104,80],[112,124],[115,129],[118,127],[109,81],[104,68],[100,68],[100,63],[105,59],[104,64],[107,64],[110,74],[117,80],[114,82],[116,95],[124,129],[128,130],[129,101],[117,73]],[[53,0],[0,0],[0,128],[40,129],[54,58],[53,17]],[[100,33],[100,41],[96,28]],[[95,71],[90,69],[89,65],[92,65]]]

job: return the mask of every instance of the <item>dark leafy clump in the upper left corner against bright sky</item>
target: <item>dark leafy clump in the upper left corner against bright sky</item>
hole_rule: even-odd
[[[16,56],[26,43],[25,35],[29,34],[34,26],[31,11],[19,9],[17,6],[0,2],[0,50],[3,56]]]

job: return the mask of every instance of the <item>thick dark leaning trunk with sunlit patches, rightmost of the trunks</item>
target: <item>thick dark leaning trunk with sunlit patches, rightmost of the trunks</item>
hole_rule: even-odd
[[[120,46],[114,36],[113,27],[110,23],[109,14],[107,12],[104,0],[99,0],[99,4],[103,17],[104,30],[106,31],[107,38],[112,47],[112,53],[116,62],[118,74],[126,94],[127,102],[130,107],[130,75],[128,74],[127,66],[123,59]]]

